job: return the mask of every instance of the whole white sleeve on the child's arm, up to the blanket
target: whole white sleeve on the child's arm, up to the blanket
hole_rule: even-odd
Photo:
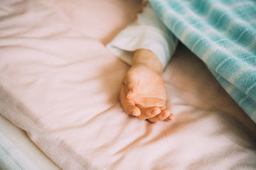
[[[150,5],[147,5],[137,20],[122,30],[107,48],[128,64],[131,64],[133,52],[144,48],[152,51],[165,67],[176,46],[177,38],[159,20]]]

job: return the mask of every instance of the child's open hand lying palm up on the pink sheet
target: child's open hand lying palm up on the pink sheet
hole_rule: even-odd
[[[120,101],[125,113],[140,120],[158,122],[175,118],[166,109],[166,90],[161,75],[143,64],[134,65],[127,71]]]

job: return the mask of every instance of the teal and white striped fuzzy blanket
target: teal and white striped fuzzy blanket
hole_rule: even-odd
[[[256,1],[149,1],[168,29],[256,122]]]

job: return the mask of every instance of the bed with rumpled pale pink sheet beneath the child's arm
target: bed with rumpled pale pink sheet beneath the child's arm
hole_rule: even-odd
[[[255,169],[255,124],[182,43],[163,73],[175,121],[124,113],[129,66],[106,44],[138,11],[136,0],[0,2],[2,169]]]

